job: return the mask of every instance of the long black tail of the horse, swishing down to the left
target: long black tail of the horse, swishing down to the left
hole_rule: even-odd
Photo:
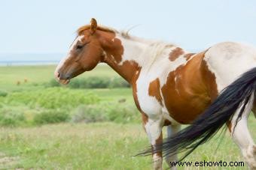
[[[185,152],[180,159],[183,160],[193,152],[199,145],[207,142],[218,130],[233,117],[239,107],[236,123],[241,119],[245,106],[249,102],[251,95],[256,90],[256,67],[242,74],[231,85],[227,86],[208,109],[194,121],[193,124],[184,128],[175,136],[166,139],[162,145],[157,145],[156,149],[148,149],[141,154],[151,154],[163,151],[163,155]],[[235,124],[236,126],[236,124]]]

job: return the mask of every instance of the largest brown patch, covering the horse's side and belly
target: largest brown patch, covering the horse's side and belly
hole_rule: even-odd
[[[161,88],[169,115],[181,124],[194,121],[218,95],[215,76],[203,63],[204,54],[198,53],[170,72]]]

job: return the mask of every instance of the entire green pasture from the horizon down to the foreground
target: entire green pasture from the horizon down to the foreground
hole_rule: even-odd
[[[49,87],[55,67],[0,67],[0,169],[151,169],[151,157],[133,157],[149,144],[131,89]],[[99,65],[78,79],[90,76],[119,77]],[[252,115],[248,127],[256,141]],[[186,160],[243,159],[230,134],[224,133]]]

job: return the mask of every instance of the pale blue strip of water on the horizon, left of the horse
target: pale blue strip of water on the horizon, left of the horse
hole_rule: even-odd
[[[62,53],[53,54],[0,54],[0,65],[41,65],[58,64],[65,55]]]

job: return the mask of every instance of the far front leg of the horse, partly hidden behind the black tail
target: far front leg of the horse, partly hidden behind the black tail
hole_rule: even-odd
[[[179,130],[181,130],[180,124],[167,126],[167,138],[170,138],[175,133],[178,133]],[[171,162],[178,161],[177,154],[166,155],[165,160],[166,160],[166,163],[168,164],[168,166],[170,167],[170,169],[172,169],[172,170],[177,169],[177,167],[171,166]]]

